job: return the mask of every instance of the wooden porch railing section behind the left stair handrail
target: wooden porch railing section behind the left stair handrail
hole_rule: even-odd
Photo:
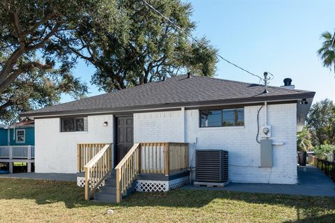
[[[84,166],[99,152],[106,144],[77,144],[77,171],[84,171]]]

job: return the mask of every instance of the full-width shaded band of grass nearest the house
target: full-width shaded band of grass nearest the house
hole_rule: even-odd
[[[0,178],[0,199],[34,199],[38,205],[64,202],[66,208],[87,206],[224,208],[229,201],[243,201],[265,206],[295,208],[296,222],[335,222],[335,199],[283,194],[253,194],[224,190],[172,190],[170,192],[135,192],[119,205],[84,201],[84,188],[73,182]],[[253,208],[254,206],[251,206]],[[239,207],[237,207],[239,208]]]

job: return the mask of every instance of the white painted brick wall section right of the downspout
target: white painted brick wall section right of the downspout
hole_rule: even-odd
[[[200,128],[199,111],[186,111],[186,141],[190,146],[190,161],[195,165],[195,149],[224,149],[229,151],[229,178],[243,183],[297,183],[295,104],[268,105],[267,124],[271,125],[271,139],[283,141],[273,146],[273,167],[260,166],[260,144],[257,134],[257,112],[260,106],[245,107],[245,127]],[[265,124],[264,109],[260,125]],[[197,144],[195,144],[197,141]]]

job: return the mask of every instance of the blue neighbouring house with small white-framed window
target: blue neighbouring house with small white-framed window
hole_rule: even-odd
[[[0,125],[0,146],[34,145],[34,120],[21,121],[10,126]]]

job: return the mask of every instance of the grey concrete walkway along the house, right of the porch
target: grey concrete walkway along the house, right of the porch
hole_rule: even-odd
[[[297,185],[268,183],[229,183],[225,187],[196,187],[186,185],[188,190],[229,190],[236,192],[273,193],[307,196],[335,197],[335,183],[319,169],[306,166],[298,168]]]

